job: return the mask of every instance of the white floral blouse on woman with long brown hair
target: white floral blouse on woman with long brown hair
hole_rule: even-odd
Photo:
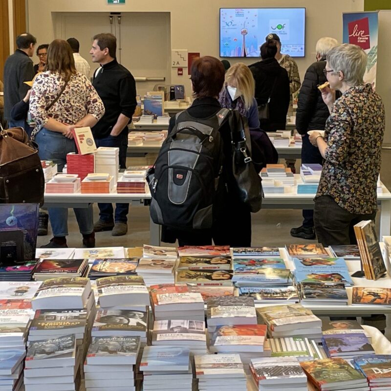
[[[80,72],[71,76],[58,101],[46,110],[64,84],[64,79],[57,72],[46,71],[35,79],[30,96],[30,113],[36,124],[32,138],[45,126],[49,118],[73,125],[87,114],[99,121],[105,113],[105,107],[95,88]]]

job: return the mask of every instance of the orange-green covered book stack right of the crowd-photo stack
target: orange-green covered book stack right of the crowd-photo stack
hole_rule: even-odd
[[[300,363],[308,380],[319,391],[368,390],[367,378],[342,358]]]

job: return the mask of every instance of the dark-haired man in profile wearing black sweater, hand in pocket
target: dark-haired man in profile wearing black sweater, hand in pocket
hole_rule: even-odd
[[[101,33],[93,37],[92,61],[101,66],[94,73],[92,85],[105,105],[105,114],[92,128],[97,147],[118,147],[120,168],[126,168],[128,124],[136,109],[136,83],[132,74],[116,60],[117,40],[113,34]],[[118,203],[113,217],[111,204],[98,204],[99,220],[94,231],[112,230],[112,236],[128,231],[129,204]]]

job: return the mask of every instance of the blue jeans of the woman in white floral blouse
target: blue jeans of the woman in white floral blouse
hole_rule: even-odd
[[[39,156],[41,160],[53,160],[57,164],[58,172],[62,172],[66,163],[66,154],[75,152],[76,145],[73,140],[69,140],[61,133],[42,128],[35,136],[35,141],[39,145]],[[94,230],[92,204],[87,208],[73,208],[80,233],[82,235],[91,234]],[[48,208],[50,225],[53,236],[68,235],[68,209]]]

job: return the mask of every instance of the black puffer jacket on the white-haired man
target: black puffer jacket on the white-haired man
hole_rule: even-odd
[[[311,64],[305,72],[296,111],[296,129],[300,134],[305,134],[307,130],[325,129],[330,113],[318,89],[327,81],[323,73],[325,66],[326,61],[322,59]]]

